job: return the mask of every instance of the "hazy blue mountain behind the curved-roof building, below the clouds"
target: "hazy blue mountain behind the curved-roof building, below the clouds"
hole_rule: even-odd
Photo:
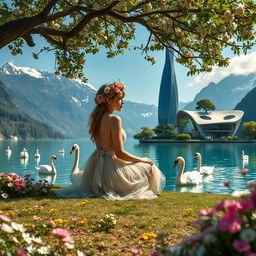
[[[209,83],[204,87],[183,109],[195,110],[197,101],[209,99],[215,106],[216,110],[234,109],[238,102],[252,90],[256,85],[256,74],[249,75],[230,75],[220,82]]]

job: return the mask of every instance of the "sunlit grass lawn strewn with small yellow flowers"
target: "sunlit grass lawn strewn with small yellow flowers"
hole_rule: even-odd
[[[48,198],[9,199],[0,203],[0,213],[23,223],[28,231],[49,244],[56,242],[49,221],[68,228],[76,248],[90,255],[140,255],[153,252],[155,238],[144,233],[167,232],[168,243],[174,245],[197,230],[192,222],[200,209],[211,208],[229,195],[163,192],[156,200],[107,201],[104,199]],[[42,207],[40,207],[42,206]],[[105,214],[114,214],[115,228],[109,232],[95,231],[95,224]],[[34,231],[35,232],[35,231]]]

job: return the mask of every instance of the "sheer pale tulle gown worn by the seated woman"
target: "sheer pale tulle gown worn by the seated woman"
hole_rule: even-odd
[[[122,137],[124,141],[124,130]],[[74,177],[73,184],[56,194],[64,198],[155,199],[164,186],[165,176],[155,164],[120,162],[113,151],[98,148],[87,160],[84,171]]]

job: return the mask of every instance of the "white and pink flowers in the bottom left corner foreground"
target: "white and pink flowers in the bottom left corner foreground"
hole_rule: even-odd
[[[35,236],[35,233],[36,230],[29,232],[23,224],[0,215],[0,255],[85,256],[75,248],[74,239],[66,229],[52,230],[52,239],[57,239],[53,245],[47,244],[40,236]]]

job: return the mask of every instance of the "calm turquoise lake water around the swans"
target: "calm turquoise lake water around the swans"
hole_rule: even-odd
[[[74,154],[70,154],[70,150],[74,143],[80,146],[79,167],[82,168],[95,148],[89,139],[0,141],[0,172],[16,172],[20,176],[31,174],[36,180],[46,178],[55,185],[68,185],[74,163]],[[6,155],[7,146],[12,150],[10,156]],[[29,159],[25,161],[19,157],[24,147],[29,153]],[[37,148],[41,154],[40,161],[34,158]],[[62,148],[65,154],[59,153]],[[137,156],[152,159],[165,174],[167,179],[165,190],[169,191],[228,193],[228,189],[221,186],[223,181],[229,180],[234,189],[243,190],[247,181],[255,180],[256,177],[256,144],[253,143],[140,144],[137,140],[128,139],[125,142],[125,149]],[[249,155],[248,165],[242,161],[242,150]],[[176,187],[175,177],[178,167],[172,168],[175,158],[183,156],[186,160],[185,171],[192,171],[197,165],[196,159],[193,159],[195,152],[201,153],[203,165],[215,166],[213,175],[205,177],[200,186]],[[52,154],[58,157],[58,161],[55,162],[57,175],[39,175],[35,166],[49,164]],[[250,170],[246,177],[239,174],[239,170],[244,167]]]

